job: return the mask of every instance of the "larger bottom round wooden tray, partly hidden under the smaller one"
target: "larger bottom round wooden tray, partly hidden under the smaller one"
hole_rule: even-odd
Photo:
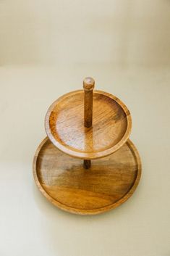
[[[140,157],[128,140],[114,154],[93,160],[90,169],[83,161],[59,151],[44,139],[33,161],[35,183],[54,205],[68,212],[93,215],[122,205],[140,181]]]

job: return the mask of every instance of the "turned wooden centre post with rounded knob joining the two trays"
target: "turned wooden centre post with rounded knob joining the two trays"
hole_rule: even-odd
[[[84,94],[84,125],[90,128],[93,124],[93,88],[95,80],[93,78],[85,78],[83,80]],[[91,160],[84,160],[84,168],[89,169]]]

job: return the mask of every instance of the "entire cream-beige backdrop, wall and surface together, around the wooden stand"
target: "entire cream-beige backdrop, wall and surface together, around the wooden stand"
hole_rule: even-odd
[[[170,1],[0,1],[0,255],[170,256]],[[48,106],[82,88],[127,104],[143,176],[124,205],[62,212],[35,187]]]

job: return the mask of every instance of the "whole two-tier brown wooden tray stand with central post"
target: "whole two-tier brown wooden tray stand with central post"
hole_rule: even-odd
[[[84,90],[61,96],[49,107],[47,138],[35,153],[33,175],[41,193],[68,212],[90,215],[125,202],[140,181],[141,163],[129,134],[131,115],[111,94]]]

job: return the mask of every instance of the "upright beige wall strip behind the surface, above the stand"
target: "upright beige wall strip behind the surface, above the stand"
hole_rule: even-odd
[[[170,65],[170,1],[4,0],[0,6],[0,65]]]

